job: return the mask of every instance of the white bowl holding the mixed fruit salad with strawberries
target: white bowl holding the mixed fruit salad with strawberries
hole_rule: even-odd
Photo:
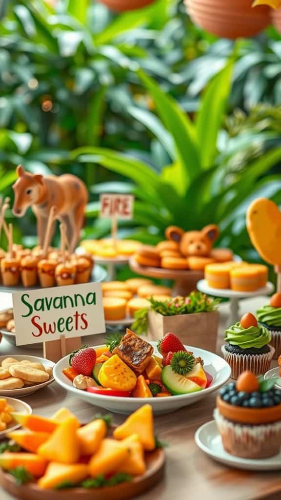
[[[150,342],[154,347],[155,353],[157,342]],[[100,347],[100,346],[95,346]],[[231,368],[229,364],[220,356],[208,352],[204,349],[198,349],[197,347],[191,347],[185,345],[186,349],[192,351],[194,356],[200,356],[204,360],[204,368],[206,371],[212,375],[213,381],[207,389],[202,389],[198,392],[193,392],[191,394],[182,394],[178,396],[168,396],[168,397],[117,397],[117,396],[104,396],[99,394],[93,394],[86,392],[84,390],[76,389],[73,387],[72,382],[62,373],[62,369],[69,366],[69,355],[60,359],[54,369],[53,376],[56,382],[61,385],[64,389],[72,392],[73,395],[80,397],[84,401],[90,404],[100,406],[108,411],[114,411],[115,413],[132,413],[137,408],[145,403],[151,404],[153,412],[157,413],[169,413],[176,409],[182,408],[183,406],[188,406],[205,396],[218,389],[223,385],[230,377]]]

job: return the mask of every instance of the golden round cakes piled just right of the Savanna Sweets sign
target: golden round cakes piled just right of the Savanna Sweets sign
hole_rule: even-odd
[[[101,283],[105,321],[133,317],[134,312],[148,307],[148,297],[166,300],[171,295],[167,286],[155,285],[151,279],[131,278],[126,281]]]

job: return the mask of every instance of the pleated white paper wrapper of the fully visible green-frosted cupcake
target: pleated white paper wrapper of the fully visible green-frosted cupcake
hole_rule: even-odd
[[[231,378],[238,378],[240,373],[245,370],[250,370],[255,375],[263,375],[270,369],[271,359],[275,352],[274,347],[269,345],[269,348],[270,351],[263,354],[235,354],[228,352],[222,345],[223,357],[231,367]]]

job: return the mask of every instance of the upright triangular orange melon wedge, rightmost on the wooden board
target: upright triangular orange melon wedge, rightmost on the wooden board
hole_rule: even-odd
[[[125,439],[131,434],[138,435],[145,450],[151,451],[155,448],[153,413],[150,404],[144,404],[134,411],[113,432],[115,439]]]

